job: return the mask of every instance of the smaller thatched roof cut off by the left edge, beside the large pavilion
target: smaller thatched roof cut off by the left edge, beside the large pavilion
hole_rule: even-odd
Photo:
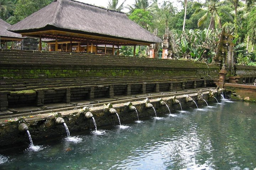
[[[7,29],[10,28],[11,25],[4,20],[0,19],[0,43],[3,44],[5,42],[10,41],[21,41],[22,36],[21,34],[16,34],[13,32],[8,31]]]

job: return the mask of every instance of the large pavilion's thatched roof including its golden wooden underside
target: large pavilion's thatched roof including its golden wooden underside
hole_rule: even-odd
[[[54,0],[48,6],[13,25],[22,36],[93,45],[150,45],[160,38],[131,21],[125,13],[77,2]],[[41,48],[40,48],[41,49]],[[55,47],[56,51],[58,47]],[[72,49],[72,48],[71,48]]]

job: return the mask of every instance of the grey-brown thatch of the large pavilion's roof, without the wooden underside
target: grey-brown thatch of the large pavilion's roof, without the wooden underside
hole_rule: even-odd
[[[123,12],[74,0],[55,0],[13,25],[10,30],[15,33],[60,30],[149,44],[162,42]]]

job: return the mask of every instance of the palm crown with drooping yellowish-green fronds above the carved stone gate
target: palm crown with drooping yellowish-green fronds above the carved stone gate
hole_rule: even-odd
[[[221,5],[223,5],[223,2],[217,2],[216,3],[215,1],[208,1],[206,7],[202,7],[203,5],[200,4],[200,3],[194,4],[194,7],[195,6],[201,6],[201,8],[197,9],[194,12],[195,15],[198,14],[199,12],[201,12],[201,11],[205,11],[205,14],[200,19],[198,19],[198,22],[197,22],[198,27],[200,27],[210,17],[210,24],[209,24],[206,35],[208,35],[210,29],[215,28],[215,22],[218,23],[219,28],[222,27],[221,18],[220,18],[220,15],[218,13],[219,10],[221,10],[221,12],[228,15],[229,18],[233,20],[233,17],[227,11],[220,8]]]

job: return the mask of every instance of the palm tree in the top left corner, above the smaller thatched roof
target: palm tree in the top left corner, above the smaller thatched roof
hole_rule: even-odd
[[[12,1],[0,0],[0,17],[4,20],[9,18],[10,12],[15,11],[15,5]]]

